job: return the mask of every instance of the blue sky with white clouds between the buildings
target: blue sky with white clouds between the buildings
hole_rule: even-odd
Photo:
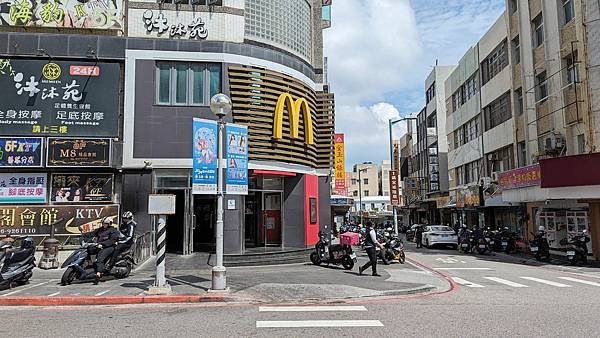
[[[504,0],[336,0],[324,31],[336,132],[346,171],[389,159],[388,119],[425,106],[425,79],[458,63],[504,10]],[[394,139],[406,131],[394,127]]]

